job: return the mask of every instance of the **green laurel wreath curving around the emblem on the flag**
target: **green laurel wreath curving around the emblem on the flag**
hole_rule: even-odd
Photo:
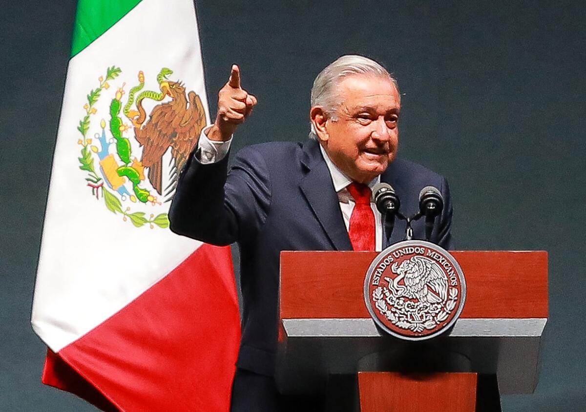
[[[121,213],[124,222],[130,220],[130,222],[136,227],[149,224],[151,229],[154,228],[154,225],[165,229],[166,227],[169,227],[169,218],[166,213],[160,213],[157,216],[151,213],[149,217],[146,217],[145,215],[147,213],[132,212],[131,207],[123,209],[120,199],[118,199],[117,196],[115,196],[107,187],[104,187],[104,179],[97,175],[96,169],[94,168],[94,157],[90,149],[92,141],[91,138],[87,138],[86,136],[90,129],[90,116],[97,112],[94,105],[100,98],[102,91],[110,87],[108,81],[114,80],[120,75],[120,73],[122,73],[120,67],[108,67],[105,77],[100,76],[98,79],[100,85],[97,88],[90,90],[90,93],[87,95],[87,103],[83,106],[86,115],[84,115],[83,119],[79,121],[79,126],[77,127],[77,130],[79,130],[83,137],[77,141],[77,143],[81,145],[81,157],[78,158],[80,162],[79,168],[88,172],[86,181],[88,182],[87,185],[91,187],[92,195],[96,196],[96,199],[99,199],[101,189],[102,198],[104,199],[107,209],[114,214]]]

